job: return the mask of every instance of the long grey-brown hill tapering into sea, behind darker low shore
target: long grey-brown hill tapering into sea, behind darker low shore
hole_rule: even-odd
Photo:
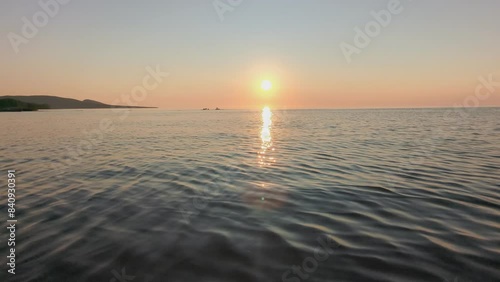
[[[49,109],[105,109],[105,108],[154,108],[108,105],[94,100],[76,100],[57,96],[0,96],[0,99],[14,99],[24,103],[46,105]]]

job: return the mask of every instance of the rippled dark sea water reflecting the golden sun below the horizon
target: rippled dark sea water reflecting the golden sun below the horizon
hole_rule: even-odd
[[[500,281],[500,109],[450,111],[0,113],[8,281]]]

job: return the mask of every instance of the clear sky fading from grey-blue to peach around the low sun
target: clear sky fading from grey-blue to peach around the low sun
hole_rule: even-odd
[[[111,103],[157,65],[170,76],[141,104],[171,109],[447,107],[500,81],[496,0],[401,0],[350,63],[341,43],[390,0],[242,0],[222,20],[212,0],[72,0],[16,53],[39,2],[0,2],[0,95]],[[500,87],[479,102],[500,106]]]

